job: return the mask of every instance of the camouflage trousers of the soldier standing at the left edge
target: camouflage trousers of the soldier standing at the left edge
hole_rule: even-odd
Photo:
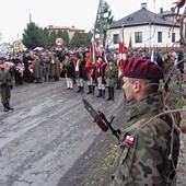
[[[9,85],[0,85],[1,103],[4,105],[10,102],[11,88]]]

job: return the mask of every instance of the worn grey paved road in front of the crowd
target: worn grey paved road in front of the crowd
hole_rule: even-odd
[[[111,116],[123,93],[116,90],[116,100],[108,102],[66,90],[62,79],[12,90],[14,111],[4,113],[0,106],[1,186],[58,184],[101,132],[85,112],[82,97]]]

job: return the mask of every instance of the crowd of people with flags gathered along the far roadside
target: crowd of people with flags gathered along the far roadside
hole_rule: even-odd
[[[126,58],[131,56],[143,59],[150,58],[150,55],[144,50],[126,53]],[[177,55],[175,51],[163,56],[160,53],[156,54],[156,63],[164,71],[164,80],[175,61],[182,58],[182,51]],[[84,86],[88,86],[88,94],[94,94],[96,90],[97,97],[105,98],[105,95],[107,95],[108,101],[115,100],[115,88],[121,89],[123,86],[121,74],[125,59],[120,59],[117,49],[111,49],[106,53],[103,49],[95,50],[94,57],[89,49],[27,50],[19,54],[1,55],[0,61],[12,77],[12,86],[23,85],[24,82],[59,81],[62,78],[66,81],[67,90],[77,90],[77,93],[84,93]],[[181,81],[182,72],[183,66],[179,63],[176,70],[173,71],[176,81]],[[170,78],[165,83],[166,91],[168,90],[168,82]]]

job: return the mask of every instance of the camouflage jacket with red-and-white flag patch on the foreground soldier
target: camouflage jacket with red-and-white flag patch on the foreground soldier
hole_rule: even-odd
[[[125,143],[112,186],[165,186],[175,172],[179,135],[174,130],[171,156],[172,119],[154,117],[163,108],[161,94],[154,94],[138,103],[129,103]]]

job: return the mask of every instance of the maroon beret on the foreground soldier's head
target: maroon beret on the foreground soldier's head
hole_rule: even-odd
[[[124,77],[139,79],[163,79],[162,69],[150,59],[131,57],[124,61]]]

